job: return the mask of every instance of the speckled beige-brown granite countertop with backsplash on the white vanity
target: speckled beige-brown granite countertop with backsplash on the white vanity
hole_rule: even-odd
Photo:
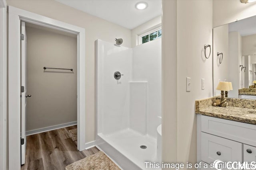
[[[212,106],[215,97],[196,100],[196,114],[256,125],[256,100],[227,98],[228,106]]]

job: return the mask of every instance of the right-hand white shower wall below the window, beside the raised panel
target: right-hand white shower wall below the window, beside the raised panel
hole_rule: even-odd
[[[156,128],[162,121],[159,118],[162,116],[161,48],[162,39],[158,38],[132,49],[132,81],[148,82],[147,132],[148,135],[154,138],[156,138]],[[136,119],[134,119],[134,121],[136,121]]]

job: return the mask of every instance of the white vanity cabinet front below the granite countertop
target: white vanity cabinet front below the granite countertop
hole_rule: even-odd
[[[256,125],[197,115],[197,161],[256,162]]]

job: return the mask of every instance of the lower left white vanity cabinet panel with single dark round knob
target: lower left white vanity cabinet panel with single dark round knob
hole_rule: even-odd
[[[215,160],[242,162],[242,143],[201,132],[201,156],[208,164]]]

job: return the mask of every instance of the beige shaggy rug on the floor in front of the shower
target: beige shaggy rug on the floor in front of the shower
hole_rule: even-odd
[[[103,152],[99,151],[96,154],[87,156],[65,168],[66,170],[120,170],[118,166],[106,156]]]

